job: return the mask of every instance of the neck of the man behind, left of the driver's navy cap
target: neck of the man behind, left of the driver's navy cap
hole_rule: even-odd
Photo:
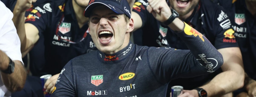
[[[79,25],[79,28],[83,27],[83,25],[88,22],[89,18],[86,18],[83,13],[85,11],[85,8],[80,7],[76,4],[75,0],[72,0],[72,5],[75,11],[75,16]]]

